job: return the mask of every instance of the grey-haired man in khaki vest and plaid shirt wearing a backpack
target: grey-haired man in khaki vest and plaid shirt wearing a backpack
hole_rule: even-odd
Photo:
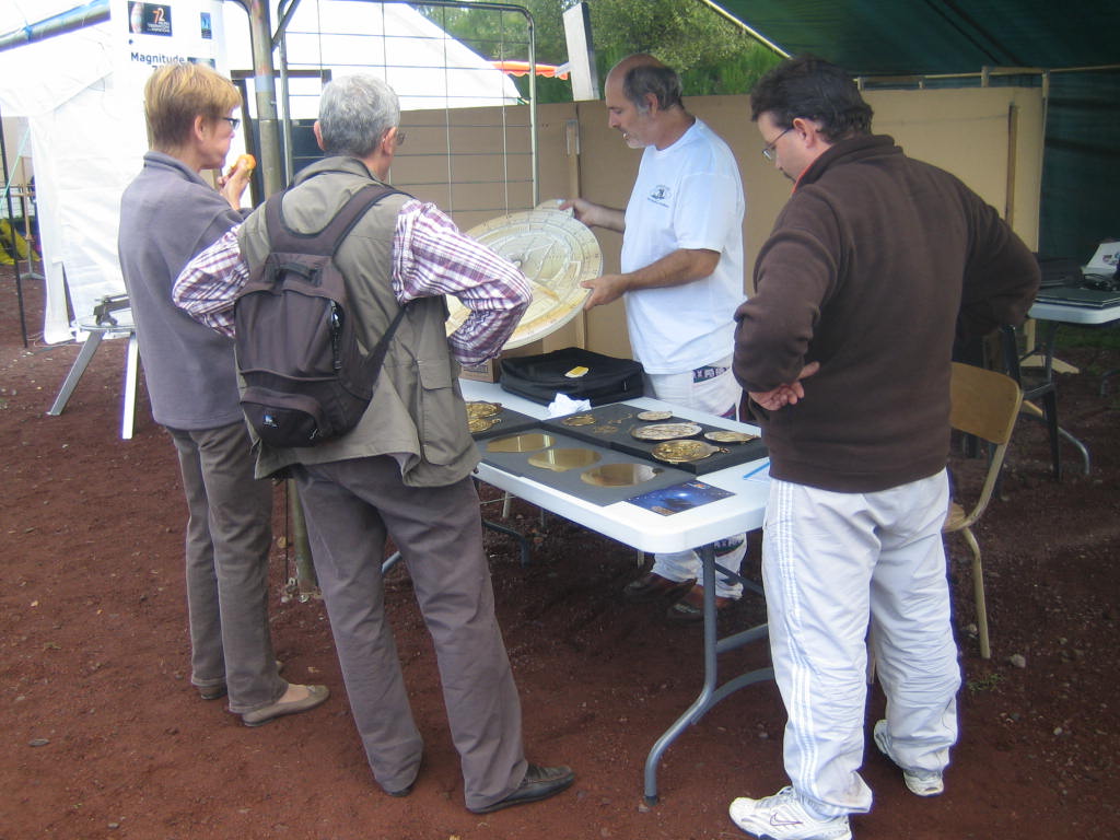
[[[385,184],[396,148],[396,94],[372,76],[323,91],[315,137],[327,153],[286,194],[297,233],[323,228],[363,187]],[[196,319],[233,334],[233,301],[270,242],[264,214],[199,254],[175,286]],[[525,760],[521,706],[494,616],[458,364],[498,353],[531,300],[524,276],[463,235],[435,205],[400,193],[371,207],[335,260],[352,319],[372,347],[405,307],[377,388],[356,427],[315,447],[256,441],[259,475],[288,470],[307,515],[319,586],[354,722],[374,777],[392,796],[412,790],[423,743],[384,613],[386,538],[401,552],[431,633],[466,805],[475,813],[535,802],[568,787],[570,768]],[[470,309],[446,336],[444,295]]]

